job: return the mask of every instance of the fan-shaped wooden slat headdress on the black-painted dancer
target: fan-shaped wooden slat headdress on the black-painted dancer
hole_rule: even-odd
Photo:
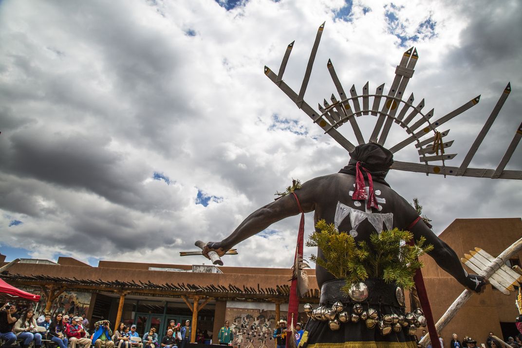
[[[468,110],[470,107],[477,105],[480,100],[480,95],[471,99],[454,111],[436,119],[436,121],[431,121],[434,109],[431,109],[428,112],[423,112],[422,109],[425,105],[424,99],[422,99],[417,105],[413,104],[413,93],[411,93],[406,99],[403,99],[408,81],[413,76],[413,68],[419,58],[415,47],[411,47],[411,49],[407,50],[402,55],[402,59],[395,70],[395,78],[392,82],[392,86],[389,88],[388,94],[386,95],[383,95],[384,83],[376,88],[374,94],[370,94],[369,82],[366,82],[366,85],[364,85],[362,94],[359,94],[355,90],[355,85],[352,85],[349,90],[350,93],[346,94],[345,89],[343,89],[337,77],[334,65],[330,60],[328,60],[327,68],[332,80],[334,81],[338,97],[331,94],[330,102],[327,102],[325,99],[324,106],[319,104],[318,111],[314,110],[304,101],[304,94],[312,73],[312,66],[314,64],[324,25],[325,23],[323,23],[317,31],[315,42],[312,47],[312,53],[306,67],[299,93],[294,92],[282,80],[284,69],[287,66],[288,58],[292,52],[294,42],[288,45],[287,50],[284,53],[281,66],[279,67],[279,73],[276,75],[274,71],[265,66],[265,75],[268,76],[268,78],[272,80],[272,82],[274,82],[285,94],[287,94],[299,109],[303,110],[308,116],[310,116],[314,123],[323,128],[325,133],[334,138],[343,148],[351,152],[355,148],[355,145],[339,133],[339,127],[345,123],[350,123],[355,139],[358,144],[361,145],[365,143],[365,139],[361,133],[359,125],[357,124],[357,117],[371,114],[377,117],[369,142],[376,142],[384,146],[389,130],[392,127],[393,122],[395,122],[404,128],[409,136],[398,142],[396,145],[390,147],[389,150],[395,153],[411,143],[415,143],[419,153],[420,163],[395,161],[392,165],[392,169],[426,173],[426,175],[442,174],[444,176],[454,175],[489,177],[493,179],[522,179],[522,171],[504,170],[507,162],[511,159],[511,156],[515,151],[520,138],[522,138],[522,124],[520,124],[516,130],[511,144],[508,146],[496,169],[478,169],[468,167],[473,155],[477,152],[482,140],[488,133],[493,121],[504,105],[509,92],[511,92],[510,83],[508,83],[504,89],[499,101],[496,103],[489,118],[482,127],[482,130],[473,142],[473,145],[466,154],[462,164],[460,164],[460,166],[447,166],[446,161],[452,160],[457,155],[456,153],[446,153],[446,150],[453,145],[454,141],[444,140],[449,133],[449,129],[439,131],[437,128]]]

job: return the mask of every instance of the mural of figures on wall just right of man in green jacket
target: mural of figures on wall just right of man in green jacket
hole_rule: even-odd
[[[272,337],[278,327],[275,310],[227,308],[225,318],[234,332],[234,347],[267,348],[275,345]],[[280,319],[287,320],[286,313],[281,313]],[[306,322],[304,313],[299,314],[299,321]]]

